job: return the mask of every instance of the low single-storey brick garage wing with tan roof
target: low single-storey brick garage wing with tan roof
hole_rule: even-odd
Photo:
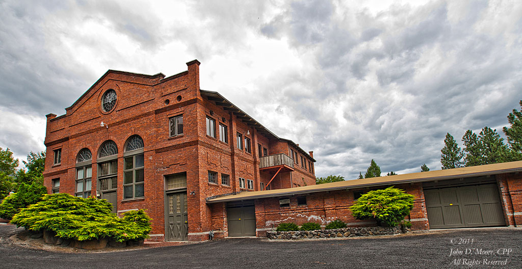
[[[239,193],[207,200],[216,208],[248,203],[257,236],[280,223],[313,221],[323,226],[342,220],[348,226],[375,226],[355,219],[350,206],[362,194],[388,186],[415,196],[406,217],[413,230],[522,225],[522,161],[495,163],[397,176],[348,180],[294,189]],[[242,201],[242,202],[239,202]],[[216,220],[230,223],[230,210],[213,210]],[[227,214],[225,214],[227,213]]]

